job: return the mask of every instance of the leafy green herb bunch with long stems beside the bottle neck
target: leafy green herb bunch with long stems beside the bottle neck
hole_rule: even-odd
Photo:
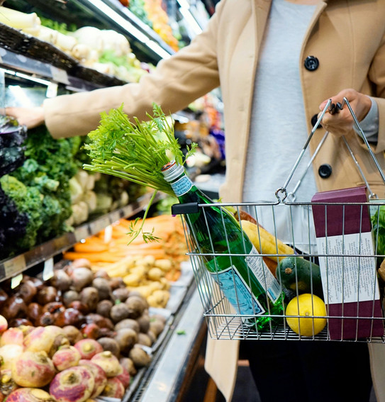
[[[157,191],[174,196],[161,172],[164,164],[171,160],[184,164],[197,147],[191,144],[184,157],[174,136],[174,126],[162,108],[153,104],[152,113],[152,116],[147,113],[148,121],[134,118],[134,123],[123,112],[123,104],[109,113],[101,113],[99,127],[89,133],[89,143],[84,146],[91,158],[90,164],[83,165],[84,169],[111,174],[155,190],[143,223]],[[130,242],[142,233],[143,223],[138,230],[130,230]],[[157,240],[151,233],[143,233],[143,238],[145,242]]]

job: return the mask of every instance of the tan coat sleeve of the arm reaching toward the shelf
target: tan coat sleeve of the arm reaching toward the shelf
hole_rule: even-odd
[[[54,138],[86,135],[100,121],[100,113],[124,104],[129,118],[146,119],[152,104],[174,113],[219,86],[216,41],[221,3],[203,33],[139,83],[57,96],[43,103],[45,124]]]

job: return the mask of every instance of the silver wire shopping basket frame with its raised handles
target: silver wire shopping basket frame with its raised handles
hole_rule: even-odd
[[[269,213],[272,214],[272,220],[273,220],[272,225],[274,227],[274,230],[271,230],[270,233],[272,233],[272,235],[274,235],[275,238],[279,239],[280,233],[277,233],[277,227],[275,225],[275,218],[274,218],[274,216],[275,216],[274,209],[275,208],[289,208],[289,210],[290,210],[289,216],[292,218],[291,211],[294,211],[293,208],[305,208],[308,211],[308,213],[307,213],[308,228],[309,228],[308,249],[310,250],[309,252],[306,252],[306,257],[308,259],[311,259],[312,261],[316,261],[316,259],[319,259],[320,257],[325,257],[326,261],[328,261],[328,259],[331,259],[331,258],[340,258],[342,261],[342,267],[341,267],[342,282],[343,282],[343,278],[344,278],[344,261],[345,261],[345,259],[352,258],[352,257],[357,258],[358,274],[359,274],[360,262],[361,262],[362,258],[372,258],[372,259],[374,259],[375,262],[379,258],[384,259],[384,255],[376,254],[376,250],[377,250],[376,244],[374,244],[374,254],[373,255],[361,255],[359,251],[357,252],[357,254],[352,254],[352,253],[347,253],[347,252],[342,252],[340,254],[334,254],[334,255],[329,254],[329,253],[328,254],[318,254],[317,250],[314,250],[314,247],[311,244],[311,238],[313,238],[313,235],[314,235],[314,233],[310,233],[311,227],[312,227],[312,221],[313,221],[313,217],[311,214],[312,206],[315,206],[315,205],[325,206],[325,213],[327,211],[327,206],[342,206],[342,211],[343,211],[342,219],[345,219],[344,216],[345,216],[345,207],[346,206],[360,206],[361,212],[363,211],[364,208],[369,209],[369,207],[370,207],[370,208],[378,208],[379,209],[381,206],[385,206],[384,202],[382,202],[380,200],[376,201],[377,196],[376,196],[376,194],[373,194],[371,189],[369,188],[369,184],[367,183],[367,181],[364,177],[364,174],[362,172],[362,169],[360,169],[359,165],[357,167],[359,169],[360,174],[362,175],[362,178],[364,179],[365,184],[367,184],[367,189],[369,191],[369,200],[371,200],[370,202],[369,201],[366,203],[296,202],[295,194],[287,194],[287,191],[286,191],[286,187],[289,184],[296,167],[298,166],[301,158],[303,157],[304,152],[306,151],[306,148],[308,147],[308,143],[310,142],[310,140],[313,136],[313,133],[318,128],[318,125],[320,125],[320,122],[322,121],[322,118],[323,118],[324,114],[326,113],[326,111],[330,111],[330,113],[331,113],[331,111],[333,109],[333,113],[337,113],[339,110],[342,110],[342,108],[345,105],[349,108],[350,113],[352,113],[355,124],[357,125],[360,133],[362,134],[362,139],[364,140],[364,143],[366,143],[366,145],[367,145],[369,154],[372,156],[372,158],[376,164],[376,167],[379,169],[379,174],[385,183],[384,172],[381,171],[381,167],[379,166],[379,163],[376,160],[376,157],[375,157],[374,153],[372,152],[372,150],[369,146],[369,143],[367,142],[367,139],[364,135],[364,132],[362,131],[361,126],[359,125],[357,117],[355,116],[354,111],[352,111],[349,101],[347,101],[347,99],[344,98],[342,104],[337,104],[337,105],[333,105],[331,103],[331,100],[329,100],[328,103],[326,104],[325,108],[323,109],[323,111],[320,113],[318,121],[316,122],[316,125],[314,125],[313,130],[309,134],[308,140],[306,141],[306,144],[304,145],[303,150],[301,151],[301,154],[298,156],[298,159],[296,160],[296,164],[294,165],[293,169],[291,169],[291,172],[289,173],[289,177],[286,179],[284,186],[277,189],[277,191],[275,193],[275,195],[277,197],[276,202],[269,202],[269,203],[268,202],[255,202],[255,203],[214,203],[213,202],[213,203],[205,203],[205,204],[196,204],[195,206],[191,206],[191,204],[189,204],[189,206],[186,206],[188,208],[186,208],[185,211],[183,210],[184,204],[179,204],[179,213],[184,215],[184,219],[183,219],[184,220],[184,233],[185,233],[185,238],[186,238],[186,244],[187,244],[187,247],[189,250],[187,255],[189,255],[190,260],[191,260],[191,265],[192,265],[193,272],[194,272],[194,279],[196,281],[196,285],[197,285],[197,288],[199,291],[199,296],[201,298],[201,303],[203,306],[203,317],[206,318],[206,323],[208,326],[208,334],[210,337],[212,337],[214,339],[218,339],[218,340],[220,340],[220,339],[225,339],[225,340],[244,340],[244,339],[273,340],[274,339],[274,340],[325,340],[325,341],[337,340],[337,341],[345,341],[345,342],[385,343],[384,333],[382,336],[372,336],[372,332],[367,337],[359,337],[358,336],[358,326],[359,326],[359,322],[360,321],[362,322],[362,320],[370,320],[370,323],[372,325],[371,328],[373,328],[373,325],[374,325],[374,323],[376,323],[377,320],[381,320],[381,323],[384,326],[384,320],[385,320],[384,319],[384,307],[382,305],[382,299],[384,296],[382,294],[382,292],[384,291],[384,289],[380,289],[381,313],[382,313],[381,317],[374,316],[374,314],[372,314],[372,316],[359,316],[358,311],[357,311],[357,316],[351,316],[351,315],[344,316],[344,314],[343,314],[344,302],[343,302],[343,298],[342,298],[342,314],[341,315],[308,316],[308,319],[312,319],[312,320],[314,320],[316,318],[325,318],[327,320],[326,327],[324,328],[324,330],[322,330],[317,335],[305,337],[301,334],[298,335],[298,334],[294,333],[294,331],[291,330],[289,328],[289,325],[287,325],[287,323],[286,323],[286,318],[288,318],[289,316],[286,316],[285,313],[283,316],[281,316],[282,318],[284,318],[283,320],[281,320],[281,325],[272,325],[270,323],[269,329],[263,330],[263,332],[256,330],[256,329],[251,329],[249,326],[244,324],[245,318],[257,319],[258,316],[242,316],[241,314],[235,312],[233,306],[230,305],[229,301],[225,298],[223,292],[221,291],[221,289],[219,289],[219,286],[216,284],[216,281],[214,281],[213,277],[210,274],[208,274],[208,271],[207,271],[205,265],[203,264],[203,259],[205,257],[218,255],[216,253],[216,250],[214,250],[214,248],[213,248],[213,250],[211,250],[212,251],[211,253],[201,252],[201,250],[199,250],[199,245],[197,245],[197,242],[195,240],[196,236],[195,236],[194,232],[191,232],[191,227],[186,224],[186,219],[188,219],[189,213],[194,213],[194,212],[196,213],[196,212],[200,211],[204,215],[205,209],[211,208],[213,206],[219,207],[220,209],[231,206],[232,208],[235,208],[237,210],[238,216],[239,216],[239,213],[241,210],[247,211],[252,216],[254,216],[254,218],[257,220],[257,223],[259,223],[257,208],[262,208],[262,209],[268,208]],[[326,133],[326,135],[328,135],[328,133]],[[321,143],[323,143],[323,140],[321,140]],[[345,138],[344,138],[344,140],[345,140]],[[345,143],[347,144],[346,140],[345,140]],[[320,145],[319,145],[319,147],[320,147]],[[319,147],[318,147],[318,149],[319,149]],[[348,149],[350,149],[350,148],[348,147]],[[316,152],[318,152],[318,150],[316,150]],[[350,154],[352,155],[352,152],[350,152]],[[353,160],[355,160],[354,155],[352,155],[352,157],[353,157]],[[313,161],[313,158],[311,159],[310,163],[308,164],[308,167],[311,166],[312,161]],[[357,164],[357,160],[355,160],[355,162]],[[300,182],[301,182],[301,179],[300,179]],[[297,184],[295,189],[298,188],[298,185],[299,185],[299,183]],[[289,197],[288,197],[288,195],[289,195]],[[289,224],[293,228],[293,222],[291,221],[291,223],[289,223]],[[206,229],[208,230],[208,236],[210,237],[210,228],[208,227],[208,225],[207,225]],[[225,225],[223,225],[223,229],[225,230]],[[226,233],[225,233],[225,235],[226,235]],[[258,235],[260,236],[260,233]],[[375,238],[378,238],[378,233],[376,233],[376,234],[374,233],[374,235],[375,235]],[[343,237],[343,235],[342,235],[342,237]],[[227,238],[227,235],[226,235],[226,238]],[[359,233],[359,238],[361,238],[361,232]],[[343,240],[342,240],[342,242],[343,242]],[[290,243],[291,247],[294,248],[294,250],[297,249],[297,246],[299,247],[299,245],[296,244],[296,234],[294,233],[294,230],[292,230],[292,232],[291,232],[291,241],[289,241],[288,244],[289,243]],[[211,242],[211,245],[213,245],[212,242]],[[272,259],[276,259],[276,261],[278,262],[279,257],[287,257],[287,255],[280,255],[279,251],[278,251],[277,243],[276,243],[276,246],[277,246],[276,254],[267,255],[263,252],[263,250],[260,250],[260,255],[258,255],[257,258],[270,257]],[[312,249],[312,247],[313,247],[313,249]],[[230,250],[230,248],[228,248],[228,250]],[[221,255],[228,255],[230,258],[235,256],[235,255],[231,254],[230,252],[228,252],[227,254],[221,252]],[[239,255],[247,256],[247,254],[239,254]],[[377,264],[375,264],[375,265],[377,265]],[[376,280],[377,280],[376,269],[374,269],[373,275],[375,277],[374,283],[376,283]],[[359,282],[358,282],[358,284],[359,284]],[[342,289],[343,289],[343,286],[344,285],[342,283]],[[374,286],[374,288],[375,288],[375,286]],[[281,286],[281,291],[284,291],[284,288],[282,286]],[[376,289],[373,289],[373,292],[374,292],[373,295],[375,295]],[[291,296],[292,297],[298,296],[299,294],[300,294],[300,291],[298,290],[298,283],[297,283],[295,295],[291,294]],[[343,292],[342,292],[342,294],[343,294]],[[358,289],[357,289],[357,294],[358,294]],[[282,298],[283,298],[283,296],[282,296]],[[375,296],[373,297],[373,301],[374,301],[374,299],[375,299]],[[358,299],[358,302],[359,302],[359,299]],[[328,304],[327,301],[325,301],[325,303]],[[374,311],[374,303],[373,303],[373,311]],[[267,316],[277,317],[277,316],[270,315],[269,311],[267,312]],[[291,317],[293,317],[293,316],[291,316]],[[298,318],[298,320],[300,318],[300,316],[294,316],[294,317]],[[342,323],[342,333],[341,333],[340,339],[335,339],[335,337],[333,337],[333,338],[330,337],[330,333],[328,330],[330,320],[340,320],[340,322]],[[355,336],[350,336],[348,339],[344,336],[344,334],[343,334],[344,320],[350,320],[350,321],[355,320],[355,323],[357,323],[357,331],[356,331]],[[314,321],[313,321],[313,323],[314,323]]]

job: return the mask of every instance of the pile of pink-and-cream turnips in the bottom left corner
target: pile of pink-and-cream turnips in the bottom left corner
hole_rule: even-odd
[[[123,398],[130,367],[96,340],[70,342],[65,330],[55,325],[8,328],[3,316],[0,323],[1,401]]]

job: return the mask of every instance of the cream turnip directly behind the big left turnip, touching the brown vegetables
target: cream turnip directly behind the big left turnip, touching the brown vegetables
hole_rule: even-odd
[[[44,351],[52,356],[60,346],[69,345],[65,331],[56,325],[37,327],[24,337],[24,347],[30,352]]]

